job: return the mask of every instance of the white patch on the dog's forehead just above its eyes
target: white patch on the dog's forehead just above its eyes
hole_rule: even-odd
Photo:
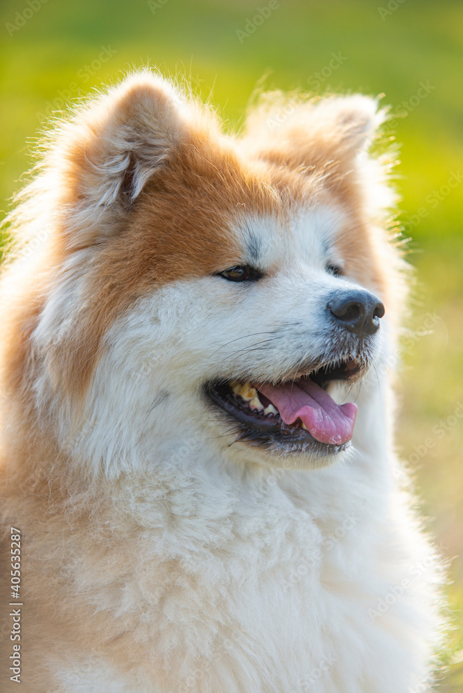
[[[295,209],[287,216],[248,215],[237,224],[245,257],[259,267],[320,264],[333,254],[347,214],[335,204]]]

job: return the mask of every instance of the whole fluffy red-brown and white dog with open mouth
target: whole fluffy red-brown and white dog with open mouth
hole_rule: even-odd
[[[139,71],[55,123],[1,289],[2,690],[431,690],[386,120],[273,94],[227,134]]]

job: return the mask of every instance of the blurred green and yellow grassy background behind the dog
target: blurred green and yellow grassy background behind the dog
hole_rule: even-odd
[[[462,691],[461,0],[3,0],[0,12],[5,211],[46,118],[132,67],[186,75],[227,127],[243,122],[256,89],[385,94],[397,116],[401,222],[418,279],[401,350],[398,444],[423,516],[453,559],[457,627],[440,690]]]

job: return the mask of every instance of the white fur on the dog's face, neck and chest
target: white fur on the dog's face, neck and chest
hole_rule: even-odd
[[[111,673],[103,655],[105,676],[85,672],[77,685],[80,668],[71,663],[63,690],[426,690],[419,686],[439,640],[439,559],[392,474],[387,371],[371,371],[353,389],[353,449],[324,468],[316,468],[317,459],[229,447],[234,436],[201,394],[207,378],[271,378],[322,353],[327,292],[353,285],[324,269],[336,260],[340,225],[333,209],[304,211],[286,228],[267,218],[243,220],[243,254],[247,229],[263,247],[263,269],[278,263],[271,281],[237,286],[206,277],[164,286],[107,335],[80,419],[56,398],[70,461],[119,477],[110,493],[121,526],[139,527],[123,592],[89,574],[85,563],[73,581],[79,590],[91,582],[95,608],[139,612],[153,657],[172,667],[166,688],[146,671]],[[73,328],[78,311],[69,305],[80,301],[79,287],[69,267],[35,333],[37,349]],[[260,349],[268,333],[270,348]],[[386,336],[383,325],[377,365]],[[239,351],[244,347],[252,350]],[[342,388],[333,394],[346,396]],[[174,583],[162,582],[164,561],[177,561]],[[394,601],[403,579],[410,588]],[[379,599],[393,603],[374,615]]]

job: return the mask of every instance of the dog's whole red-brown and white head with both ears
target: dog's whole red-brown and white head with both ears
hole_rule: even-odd
[[[35,184],[52,271],[31,339],[73,454],[110,467],[189,437],[309,466],[349,447],[349,393],[397,312],[382,119],[361,96],[273,102],[230,137],[143,73],[62,126]]]

